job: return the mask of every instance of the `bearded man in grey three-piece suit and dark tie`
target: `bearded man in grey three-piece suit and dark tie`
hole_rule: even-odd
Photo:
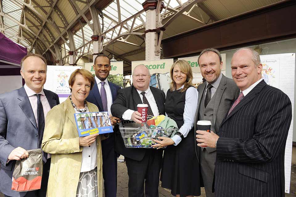
[[[211,121],[211,132],[218,133],[220,124],[231,107],[233,101],[238,97],[240,90],[232,79],[221,73],[223,66],[222,57],[216,49],[205,49],[198,58],[200,71],[204,83],[197,88],[199,92],[198,105],[195,113],[194,127],[197,130],[198,120]],[[201,175],[207,197],[215,196],[212,193],[212,183],[215,170],[216,148],[195,147],[199,158]]]

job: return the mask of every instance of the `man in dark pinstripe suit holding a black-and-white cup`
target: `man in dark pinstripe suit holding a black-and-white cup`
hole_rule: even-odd
[[[291,101],[261,79],[259,54],[237,50],[232,77],[241,93],[217,135],[197,131],[199,146],[216,147],[216,196],[285,196],[284,152]]]

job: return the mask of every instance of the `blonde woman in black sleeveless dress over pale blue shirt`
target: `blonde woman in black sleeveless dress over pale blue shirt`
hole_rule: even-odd
[[[193,127],[198,91],[192,85],[192,70],[187,61],[176,61],[170,71],[171,86],[167,91],[165,111],[175,120],[179,131],[171,138],[159,137],[153,147],[164,150],[161,186],[177,197],[200,195],[199,162],[195,156]]]

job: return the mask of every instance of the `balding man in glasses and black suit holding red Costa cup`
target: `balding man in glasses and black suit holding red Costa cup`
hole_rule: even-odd
[[[117,98],[111,106],[112,114],[124,120],[142,123],[137,105],[143,103],[148,105],[148,116],[165,115],[165,94],[162,90],[149,86],[149,82],[150,72],[148,68],[143,64],[136,66],[133,70],[133,85],[118,90]],[[144,197],[145,182],[145,196],[158,197],[162,150],[126,148],[120,133],[117,133],[116,150],[125,156],[129,175],[129,196]]]

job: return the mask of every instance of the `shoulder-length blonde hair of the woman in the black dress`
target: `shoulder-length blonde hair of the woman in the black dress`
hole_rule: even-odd
[[[185,60],[177,60],[176,62],[174,62],[174,64],[171,67],[170,70],[170,77],[171,77],[171,84],[170,84],[170,91],[174,91],[176,90],[176,83],[173,79],[173,71],[174,71],[174,67],[178,65],[180,67],[180,70],[186,74],[187,78],[186,81],[184,83],[184,88],[181,90],[181,92],[184,92],[185,90],[187,90],[187,88],[189,88],[190,86],[193,86],[192,84],[192,79],[193,79],[193,75],[192,75],[192,69],[191,66],[189,65],[189,63]]]

